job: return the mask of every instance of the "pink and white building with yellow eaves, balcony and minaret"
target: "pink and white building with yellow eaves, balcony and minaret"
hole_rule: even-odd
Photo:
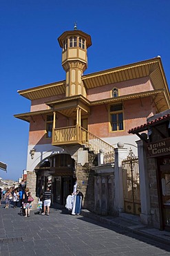
[[[140,214],[138,172],[130,188],[123,161],[129,152],[138,156],[138,136],[129,129],[170,107],[161,59],[83,75],[90,35],[71,30],[58,40],[65,80],[19,91],[31,101],[28,113],[14,115],[30,124],[27,185],[36,196],[51,187],[52,203],[65,205],[77,179],[85,208]],[[116,50],[103,41],[98,55],[104,51]]]

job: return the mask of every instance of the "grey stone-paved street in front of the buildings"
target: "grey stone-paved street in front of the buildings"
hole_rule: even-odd
[[[161,244],[128,230],[72,216],[67,210],[51,209],[50,216],[19,208],[0,207],[0,255],[170,255],[170,244]]]

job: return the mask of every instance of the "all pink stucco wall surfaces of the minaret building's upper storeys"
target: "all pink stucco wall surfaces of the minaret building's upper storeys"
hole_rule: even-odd
[[[107,84],[105,86],[89,89],[87,91],[87,98],[91,101],[111,98],[111,90],[114,87],[118,88],[119,95],[128,95],[131,93],[139,93],[142,91],[153,90],[149,77],[143,77],[141,79],[128,80],[127,82],[120,82],[116,84]],[[65,95],[54,95],[53,97],[49,98],[32,100],[31,111],[48,109],[45,102],[50,100],[57,100],[60,98],[65,98]],[[146,122],[147,117],[152,116],[154,113],[156,113],[156,109],[152,107],[151,102],[152,101],[150,97],[136,100],[126,100],[123,102],[123,131],[111,131],[109,124],[109,105],[101,104],[91,107],[88,117],[88,129],[92,134],[100,138],[125,135],[127,136],[129,135],[127,133],[129,129],[138,125],[142,125]],[[59,113],[57,113],[57,118],[58,120],[56,122],[56,128],[74,125],[74,120],[72,118],[66,118]],[[33,119],[34,121],[30,121],[29,145],[47,143],[51,144],[51,138],[45,138],[45,115],[34,116]]]

